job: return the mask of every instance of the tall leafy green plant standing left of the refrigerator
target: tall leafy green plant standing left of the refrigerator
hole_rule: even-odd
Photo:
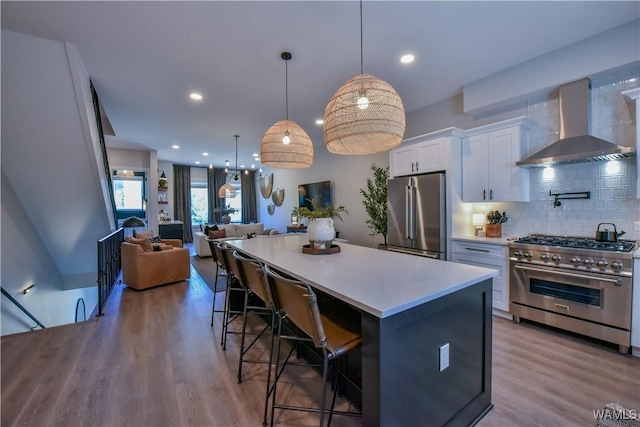
[[[367,187],[360,189],[362,204],[369,219],[365,221],[367,228],[371,230],[370,236],[382,234],[384,245],[387,247],[387,181],[389,180],[389,167],[382,168],[375,163],[371,165],[373,179],[367,178]],[[381,247],[381,245],[378,245]]]

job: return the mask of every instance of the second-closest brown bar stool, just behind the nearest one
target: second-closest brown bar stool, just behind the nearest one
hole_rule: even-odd
[[[238,278],[240,279],[240,284],[243,285],[246,289],[245,299],[244,299],[244,310],[243,310],[243,321],[242,321],[242,338],[240,339],[240,357],[238,360],[238,384],[242,382],[242,364],[243,363],[266,363],[267,364],[267,388],[265,393],[264,400],[264,417],[262,420],[263,425],[267,425],[267,412],[269,408],[269,396],[271,395],[271,391],[273,390],[271,387],[271,365],[273,364],[273,343],[275,337],[275,330],[277,329],[277,325],[280,323],[281,319],[279,313],[276,312],[273,306],[273,299],[271,297],[271,292],[269,287],[267,286],[264,276],[263,269],[264,266],[257,260],[252,258],[247,258],[244,254],[239,253],[238,251],[233,252],[233,257],[236,260],[236,265],[238,267]],[[251,304],[251,296],[256,296],[258,299],[262,301],[263,306]],[[247,318],[250,313],[267,313],[271,315],[271,322],[267,323],[264,328],[258,333],[255,334],[255,337],[245,347],[245,337],[247,330]],[[269,345],[269,360],[255,360],[255,359],[247,359],[245,355],[247,352],[253,347],[253,345],[258,341],[258,339],[264,334],[264,332],[271,328],[271,343]]]

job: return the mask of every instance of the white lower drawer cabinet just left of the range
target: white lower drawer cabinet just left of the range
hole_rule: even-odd
[[[498,243],[452,239],[451,250],[453,262],[498,270],[498,275],[493,278],[494,314],[510,317],[509,248]]]

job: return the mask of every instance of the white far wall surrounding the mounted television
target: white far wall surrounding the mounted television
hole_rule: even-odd
[[[257,187],[259,221],[265,224],[265,228],[276,228],[285,233],[287,225],[291,224],[291,211],[298,205],[298,185],[328,180],[331,181],[333,205],[343,205],[349,211],[348,215],[342,215],[343,221],[335,222],[340,238],[362,246],[375,247],[383,243],[382,236],[369,236],[370,231],[364,223],[368,216],[359,190],[365,187],[367,178],[372,176],[371,164],[388,166],[389,154],[341,156],[328,152],[324,144],[316,144],[314,151],[313,166],[309,169],[263,168],[263,174],[273,173],[273,190],[284,188],[285,193],[282,206],[276,207],[274,214],[269,215],[267,206],[272,201],[264,199]]]

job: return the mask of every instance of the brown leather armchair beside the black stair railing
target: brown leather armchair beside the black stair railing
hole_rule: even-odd
[[[165,248],[160,251],[145,251],[140,244],[122,243],[122,281],[128,287],[142,290],[190,277],[189,249],[182,247],[182,240],[163,239],[162,243]]]

